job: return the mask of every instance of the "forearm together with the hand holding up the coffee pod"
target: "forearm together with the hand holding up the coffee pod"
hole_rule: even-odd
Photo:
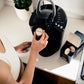
[[[25,69],[25,72],[23,74],[23,77],[20,81],[22,84],[32,84],[34,69],[35,69],[35,64],[36,64],[36,59],[38,57],[38,53],[43,48],[45,48],[47,45],[48,35],[44,31],[43,31],[42,37],[39,41],[37,41],[35,38],[36,38],[36,33],[34,33],[29,61],[28,61],[27,67]]]

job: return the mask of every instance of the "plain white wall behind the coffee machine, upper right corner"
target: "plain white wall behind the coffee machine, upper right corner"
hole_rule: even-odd
[[[84,17],[84,0],[52,0],[61,6],[70,17]]]

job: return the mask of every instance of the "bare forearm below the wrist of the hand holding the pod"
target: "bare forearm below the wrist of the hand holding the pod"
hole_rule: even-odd
[[[37,56],[37,52],[30,52],[28,64],[20,81],[22,84],[32,84]]]

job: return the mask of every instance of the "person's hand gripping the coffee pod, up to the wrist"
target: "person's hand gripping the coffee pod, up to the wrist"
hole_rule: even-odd
[[[48,35],[43,30],[42,37],[40,38],[40,40],[36,40],[36,32],[34,32],[31,45],[31,52],[39,53],[41,50],[43,50],[47,45],[48,38]]]

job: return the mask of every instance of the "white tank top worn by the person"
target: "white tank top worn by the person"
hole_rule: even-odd
[[[17,80],[20,73],[20,60],[15,49],[5,36],[0,36],[0,40],[5,48],[5,53],[0,53],[0,60],[6,62],[10,68],[15,80]]]

